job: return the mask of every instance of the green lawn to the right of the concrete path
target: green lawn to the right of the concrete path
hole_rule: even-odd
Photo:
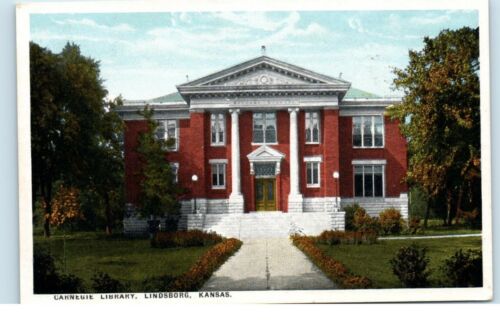
[[[318,245],[323,252],[342,262],[352,273],[366,276],[375,288],[402,287],[398,278],[392,273],[389,261],[399,248],[417,243],[427,248],[430,258],[429,278],[432,287],[442,286],[444,275],[440,271],[443,261],[458,249],[481,249],[480,237],[418,239],[418,240],[382,240],[373,245]]]

